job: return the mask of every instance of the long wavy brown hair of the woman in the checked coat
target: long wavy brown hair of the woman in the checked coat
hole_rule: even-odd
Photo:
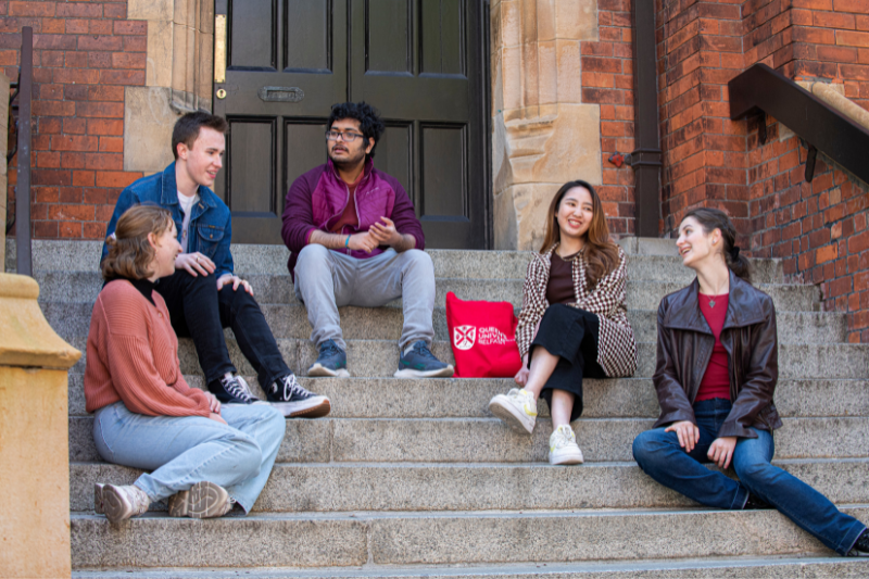
[[[593,214],[589,230],[585,232],[584,252],[585,262],[588,263],[585,282],[589,288],[593,288],[597,285],[597,281],[618,267],[618,246],[609,239],[609,227],[606,225],[606,215],[604,214],[601,198],[597,197],[594,187],[588,182],[581,180],[566,182],[552,198],[549,212],[550,218],[546,222],[546,237],[543,238],[540,253],[546,253],[555,243],[562,240],[562,229],[558,227],[557,217],[558,210],[564,196],[575,187],[582,187],[591,194]]]

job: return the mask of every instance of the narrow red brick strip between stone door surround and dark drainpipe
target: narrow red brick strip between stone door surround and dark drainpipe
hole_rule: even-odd
[[[597,0],[600,40],[580,42],[582,102],[601,105],[601,196],[612,232],[634,231],[633,169],[608,161],[633,151],[633,25],[631,0]]]

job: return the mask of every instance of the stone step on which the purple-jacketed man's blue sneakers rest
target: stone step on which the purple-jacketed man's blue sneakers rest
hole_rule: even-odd
[[[204,389],[200,375],[187,382]],[[245,378],[254,394],[265,399],[255,376]],[[512,378],[451,380],[399,378],[300,378],[302,386],[329,397],[332,418],[490,418],[489,401],[516,388]],[[869,416],[869,381],[781,380],[776,407],[783,417]],[[70,375],[70,415],[85,416],[84,376]],[[585,418],[657,418],[660,410],[650,378],[588,379],[583,386]],[[549,417],[546,402],[538,414]]]

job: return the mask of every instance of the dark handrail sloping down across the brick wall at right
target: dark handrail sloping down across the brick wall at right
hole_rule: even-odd
[[[815,171],[815,155],[830,159],[869,182],[869,130],[766,64],[755,64],[728,83],[730,118],[768,114],[809,144],[806,180]],[[760,142],[766,140],[766,118]]]

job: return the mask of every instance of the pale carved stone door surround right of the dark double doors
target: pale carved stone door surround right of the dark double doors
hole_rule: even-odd
[[[494,249],[538,249],[558,187],[602,182],[601,110],[582,103],[580,58],[597,37],[597,0],[492,0]]]

